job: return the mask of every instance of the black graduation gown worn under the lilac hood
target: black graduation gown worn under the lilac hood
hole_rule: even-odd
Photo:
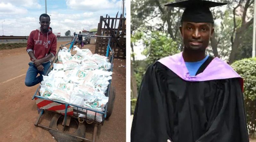
[[[204,71],[209,58],[197,71]],[[156,62],[134,112],[132,142],[249,142],[238,78],[189,82]]]

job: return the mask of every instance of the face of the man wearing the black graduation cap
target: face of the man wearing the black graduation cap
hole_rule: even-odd
[[[214,32],[211,23],[182,22],[180,33],[185,48],[204,51]]]

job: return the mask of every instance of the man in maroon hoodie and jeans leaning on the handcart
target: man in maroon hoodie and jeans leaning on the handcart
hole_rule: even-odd
[[[56,54],[57,38],[50,30],[50,20],[49,15],[40,15],[40,28],[32,31],[29,35],[27,52],[31,62],[28,63],[26,86],[34,86],[43,80],[42,75],[46,75],[50,67],[50,59]],[[40,76],[37,77],[38,73]]]

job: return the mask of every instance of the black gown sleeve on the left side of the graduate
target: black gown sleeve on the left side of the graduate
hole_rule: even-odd
[[[140,86],[131,130],[131,142],[167,142],[165,88],[155,65],[148,67]]]

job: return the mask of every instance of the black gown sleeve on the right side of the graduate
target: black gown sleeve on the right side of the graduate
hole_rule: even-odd
[[[208,129],[196,142],[249,142],[238,78],[225,79],[218,86],[218,106],[212,105]]]

